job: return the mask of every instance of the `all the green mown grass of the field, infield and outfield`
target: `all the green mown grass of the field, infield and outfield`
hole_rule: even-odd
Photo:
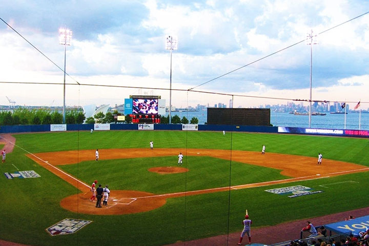
[[[204,148],[286,153],[342,160],[369,166],[367,139],[302,135],[182,132],[182,131],[95,131],[40,134],[16,134],[16,144],[31,152],[49,152],[106,148]],[[146,213],[97,216],[76,214],[59,206],[59,201],[79,191],[15,147],[7,154],[3,172],[34,170],[41,178],[7,180],[0,185],[4,198],[0,216],[0,238],[34,245],[162,245],[178,240],[191,240],[241,231],[240,221],[247,208],[253,226],[269,226],[284,221],[312,218],[366,207],[368,196],[362,192],[369,182],[369,173],[299,181],[231,192],[171,198],[165,206]],[[239,185],[285,178],[276,170],[245,165],[212,157],[186,157],[191,172],[159,175],[147,171],[161,163],[176,163],[176,156],[81,162],[63,166],[64,170],[90,183],[98,178],[115,189],[140,190],[156,194],[185,190]],[[14,166],[13,166],[14,165]],[[347,182],[347,181],[357,181]],[[330,188],[320,185],[338,183]],[[264,190],[303,185],[322,193],[289,198]],[[360,197],[357,199],[356,197]],[[271,216],[273,215],[273,216]],[[86,228],[72,235],[51,237],[47,227],[64,218],[93,220]],[[343,218],[342,218],[343,219]],[[301,225],[303,226],[303,225]],[[97,243],[98,242],[98,243]]]

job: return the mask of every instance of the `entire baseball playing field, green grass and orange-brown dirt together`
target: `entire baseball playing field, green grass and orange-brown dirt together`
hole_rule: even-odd
[[[369,202],[369,143],[364,138],[197,131],[12,137],[0,142],[14,144],[1,163],[2,173],[32,170],[39,175],[0,178],[0,239],[12,242],[166,245],[239,232],[245,209],[256,228]],[[182,166],[177,165],[179,152]],[[95,208],[89,200],[94,180],[109,185],[107,207]],[[289,197],[265,191],[293,186],[317,192]],[[64,219],[91,222],[75,233],[51,236],[48,228]]]

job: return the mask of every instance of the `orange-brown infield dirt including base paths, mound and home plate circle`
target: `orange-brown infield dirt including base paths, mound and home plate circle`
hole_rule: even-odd
[[[284,180],[276,180],[269,182],[253,183],[247,185],[221,187],[199,191],[178,192],[171,194],[152,194],[142,191],[118,191],[112,190],[109,198],[109,206],[101,209],[95,208],[95,204],[89,200],[91,197],[90,187],[81,182],[70,174],[67,174],[57,168],[59,165],[68,165],[79,163],[81,161],[95,160],[95,150],[79,150],[79,151],[62,151],[27,154],[31,159],[39,163],[39,165],[48,169],[60,178],[63,178],[71,185],[75,186],[82,193],[75,194],[64,198],[60,201],[60,206],[76,212],[85,214],[130,214],[150,211],[163,206],[167,198],[181,197],[189,195],[197,195],[204,193],[229,191],[230,189],[246,189],[251,187],[274,185],[277,183],[287,183],[298,180],[314,179],[321,177],[337,176],[348,173],[363,172],[369,168],[348,163],[343,161],[335,161],[323,159],[322,165],[317,166],[317,158],[285,155],[276,153],[267,153],[261,155],[260,152],[238,151],[238,150],[210,150],[210,149],[101,149],[99,150],[99,160],[104,159],[124,159],[140,157],[157,157],[157,156],[177,156],[182,152],[185,156],[211,156],[226,160],[238,161],[262,167],[274,168],[281,170],[281,174],[292,178]],[[179,168],[179,167],[178,167]],[[170,174],[179,170],[186,172],[184,168],[159,167],[154,170],[161,173]],[[152,170],[148,170],[152,171]]]

